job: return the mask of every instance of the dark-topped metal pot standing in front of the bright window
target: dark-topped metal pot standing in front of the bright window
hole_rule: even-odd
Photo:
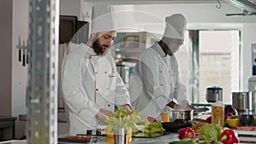
[[[218,86],[212,86],[207,88],[207,102],[223,101],[223,90]]]

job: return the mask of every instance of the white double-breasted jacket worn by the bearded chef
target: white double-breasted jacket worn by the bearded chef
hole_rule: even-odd
[[[61,80],[70,133],[96,130],[102,123],[96,118],[101,108],[113,111],[115,105],[130,104],[113,57],[96,55],[83,43],[65,57]]]

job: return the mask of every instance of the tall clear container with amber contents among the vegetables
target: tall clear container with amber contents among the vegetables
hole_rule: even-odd
[[[212,105],[212,123],[224,127],[224,103],[216,101]]]

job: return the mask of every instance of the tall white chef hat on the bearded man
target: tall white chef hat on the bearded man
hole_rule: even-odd
[[[113,7],[109,5],[95,5],[92,7],[91,33],[115,31],[115,17]]]

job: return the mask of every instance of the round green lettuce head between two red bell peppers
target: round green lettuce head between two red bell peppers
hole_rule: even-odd
[[[205,124],[201,127],[200,135],[206,144],[218,143],[222,128],[218,124]]]

